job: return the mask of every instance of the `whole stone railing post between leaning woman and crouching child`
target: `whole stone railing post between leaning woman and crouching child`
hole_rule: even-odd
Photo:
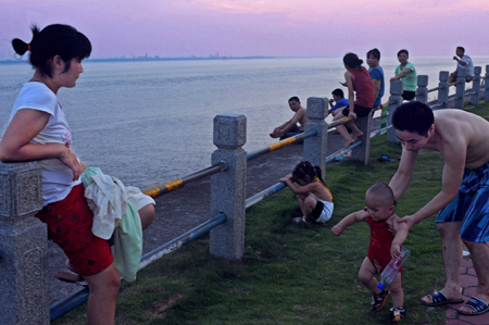
[[[244,250],[247,182],[247,117],[222,114],[214,117],[212,164],[225,161],[227,170],[211,177],[211,215],[224,213],[225,223],[211,230],[210,254],[239,261]]]

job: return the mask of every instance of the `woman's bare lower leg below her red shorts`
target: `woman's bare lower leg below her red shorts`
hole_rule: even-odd
[[[121,286],[121,276],[114,264],[96,275],[85,276],[85,280],[90,288],[87,309],[88,324],[114,324],[115,300]]]

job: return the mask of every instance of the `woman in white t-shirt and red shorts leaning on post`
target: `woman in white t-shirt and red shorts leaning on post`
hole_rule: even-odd
[[[32,27],[26,43],[12,40],[16,53],[29,51],[34,76],[22,88],[0,141],[2,162],[39,161],[43,208],[36,215],[48,225],[49,237],[88,283],[88,323],[113,324],[121,278],[106,240],[91,233],[92,213],[79,176],[86,166],[73,152],[72,135],[57,93],[73,88],[91,53],[88,38],[68,25]],[[154,207],[139,210],[141,226],[154,218]]]

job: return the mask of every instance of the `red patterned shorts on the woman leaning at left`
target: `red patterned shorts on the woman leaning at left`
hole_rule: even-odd
[[[93,214],[84,192],[79,184],[64,200],[49,203],[36,216],[48,225],[49,239],[63,249],[78,274],[88,276],[109,267],[114,258],[109,242],[91,233]]]

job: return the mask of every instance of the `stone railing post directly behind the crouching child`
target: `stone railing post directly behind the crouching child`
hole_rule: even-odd
[[[319,166],[323,171],[326,168],[326,154],[328,145],[328,124],[324,121],[328,115],[328,99],[310,97],[308,98],[308,117],[305,123],[305,133],[313,130],[317,135],[304,139],[304,160],[312,163],[313,166]],[[323,173],[323,177],[325,172]]]

